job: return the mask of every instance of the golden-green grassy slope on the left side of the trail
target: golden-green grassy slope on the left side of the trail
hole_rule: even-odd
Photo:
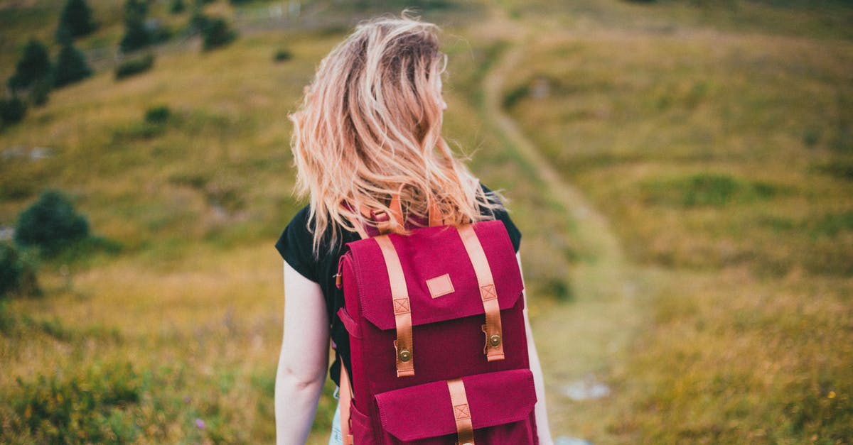
[[[91,4],[97,17],[113,17],[113,3]],[[462,26],[472,8],[450,4],[436,17],[452,14],[444,22]],[[255,9],[265,3],[247,6]],[[154,49],[151,72],[122,81],[113,63],[95,61],[92,78],[53,91],[46,106],[0,133],[0,147],[25,153],[0,161],[0,225],[14,226],[43,190],[61,189],[96,234],[120,246],[42,262],[44,295],[0,307],[3,442],[272,440],[283,306],[272,244],[304,205],[291,193],[287,113],[346,24],[377,12],[327,9],[307,5],[304,21],[282,25],[213,3],[209,14],[241,26],[235,43],[209,53],[198,38],[165,43]],[[164,11],[153,4],[152,15]],[[17,30],[4,40],[4,76],[26,42],[23,30],[48,42],[56,14],[38,2],[0,9],[4,30]],[[103,23],[78,47],[114,45],[120,35],[120,20]],[[482,60],[450,36],[457,78],[475,86]],[[293,59],[275,63],[278,49]],[[448,135],[466,153],[493,143],[471,131],[478,116],[462,91],[447,100]],[[154,107],[168,107],[165,123],[145,120]],[[50,156],[30,159],[34,147]],[[493,188],[512,187],[511,198],[534,194],[507,181],[522,175],[502,156],[477,153],[475,170]],[[560,262],[533,276],[544,277],[537,282],[545,291],[566,295]],[[328,391],[312,441],[325,440],[333,402]]]

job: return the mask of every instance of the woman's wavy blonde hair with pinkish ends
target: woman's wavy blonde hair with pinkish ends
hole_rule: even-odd
[[[310,194],[315,255],[328,228],[334,249],[339,228],[376,227],[359,209],[391,216],[397,192],[404,215],[426,218],[434,203],[452,224],[493,219],[502,209],[441,136],[446,55],[437,31],[405,11],[360,24],[320,62],[290,115],[296,188]],[[403,221],[392,226],[405,232]]]

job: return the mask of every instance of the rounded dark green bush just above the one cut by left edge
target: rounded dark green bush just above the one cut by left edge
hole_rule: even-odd
[[[35,204],[20,213],[15,243],[37,247],[55,256],[67,246],[89,237],[89,222],[74,211],[71,200],[60,192],[44,192]]]

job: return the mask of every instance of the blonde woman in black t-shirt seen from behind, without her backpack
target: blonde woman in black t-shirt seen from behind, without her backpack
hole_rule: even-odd
[[[441,136],[446,58],[437,29],[405,14],[357,26],[321,62],[291,116],[299,194],[309,194],[310,205],[276,243],[285,259],[287,297],[276,375],[280,444],[304,443],[310,432],[330,337],[336,345],[330,377],[337,384],[340,367],[349,369],[349,338],[336,315],[343,297],[335,292],[334,275],[344,244],[358,240],[361,228],[376,226],[355,209],[391,214],[390,197],[399,194],[409,220],[427,220],[427,203],[438,205],[445,222],[500,219],[518,251],[521,235],[500,199],[479,185]],[[542,370],[528,340],[540,443],[549,444]],[[329,443],[339,443],[339,431],[333,432]]]

